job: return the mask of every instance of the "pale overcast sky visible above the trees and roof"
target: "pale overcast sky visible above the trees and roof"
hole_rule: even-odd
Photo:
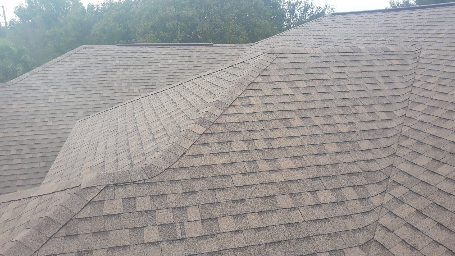
[[[102,0],[81,0],[86,5],[88,2],[98,3]],[[335,11],[354,11],[354,10],[374,10],[384,9],[388,5],[388,0],[314,0],[316,4],[328,2],[336,5]],[[24,0],[0,0],[0,5],[5,5],[6,18],[9,20],[14,15],[14,6],[24,3]],[[3,15],[3,14],[2,14]],[[3,23],[3,18],[1,19]]]

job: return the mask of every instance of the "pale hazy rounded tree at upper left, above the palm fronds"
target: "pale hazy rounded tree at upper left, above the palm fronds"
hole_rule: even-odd
[[[79,0],[26,0],[15,15],[8,36],[39,64],[84,44],[93,26]]]

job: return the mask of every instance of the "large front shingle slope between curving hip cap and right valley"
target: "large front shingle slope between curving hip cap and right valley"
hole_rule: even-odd
[[[372,241],[420,50],[268,54],[170,168],[106,187],[38,253],[300,255]]]

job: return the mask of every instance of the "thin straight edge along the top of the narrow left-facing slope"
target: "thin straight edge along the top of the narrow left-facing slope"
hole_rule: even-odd
[[[85,120],[85,119],[87,119],[87,118],[91,118],[91,117],[93,117],[93,116],[96,116],[96,115],[98,115],[98,114],[104,113],[104,112],[106,112],[106,111],[108,111],[108,110],[111,110],[111,109],[114,109],[114,108],[121,107],[121,106],[125,105],[126,103],[136,101],[136,100],[138,100],[138,99],[141,99],[141,98],[143,98],[143,97],[150,96],[150,95],[152,95],[152,94],[156,94],[156,93],[158,93],[158,92],[163,92],[163,91],[165,91],[165,90],[167,90],[167,89],[171,89],[172,87],[176,87],[177,85],[180,85],[180,84],[182,84],[182,83],[189,82],[189,81],[194,80],[194,79],[196,79],[196,78],[203,77],[203,76],[207,76],[207,75],[212,74],[212,73],[214,73],[214,72],[221,71],[221,70],[223,70],[223,69],[226,69],[226,68],[231,67],[231,66],[233,66],[233,65],[235,65],[235,64],[241,63],[241,62],[243,62],[243,61],[248,61],[248,60],[250,60],[250,59],[256,58],[256,57],[258,57],[258,56],[260,56],[260,55],[263,55],[263,54],[265,54],[265,53],[266,53],[266,52],[259,52],[259,53],[257,53],[256,55],[254,55],[254,56],[252,56],[252,57],[243,58],[243,59],[238,59],[238,60],[232,61],[232,62],[230,62],[230,63],[228,63],[228,64],[226,64],[226,65],[224,65],[224,66],[217,67],[217,68],[208,70],[208,71],[206,71],[206,72],[203,72],[203,73],[201,73],[201,74],[199,74],[199,75],[196,75],[196,76],[193,76],[193,77],[189,77],[189,78],[187,78],[187,79],[184,79],[184,80],[182,80],[182,81],[180,81],[180,82],[173,83],[172,85],[169,85],[169,86],[167,86],[167,87],[163,87],[163,88],[157,89],[157,90],[155,90],[155,91],[153,91],[153,92],[148,92],[148,93],[146,93],[146,94],[142,94],[141,96],[138,96],[138,97],[132,98],[132,99],[130,99],[130,100],[121,102],[121,103],[119,103],[119,104],[117,104],[117,105],[115,105],[115,106],[112,106],[112,107],[110,107],[110,108],[103,109],[103,110],[101,110],[100,112],[94,113],[94,114],[92,114],[92,115],[90,115],[90,116],[87,116],[87,117],[84,117],[84,118],[81,118],[81,119],[77,120],[76,123],[81,122],[81,121],[83,121],[83,120]]]

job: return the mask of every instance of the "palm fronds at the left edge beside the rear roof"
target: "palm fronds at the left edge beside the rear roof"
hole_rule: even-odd
[[[8,82],[32,69],[32,61],[25,47],[0,45],[0,82]]]

